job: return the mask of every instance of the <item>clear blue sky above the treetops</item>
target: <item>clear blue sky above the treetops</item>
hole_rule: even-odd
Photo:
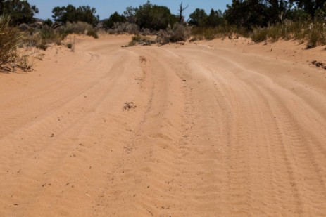
[[[171,13],[177,13],[177,8],[180,5],[180,1],[175,0],[152,0],[152,4],[158,4],[163,6],[168,6],[170,8]],[[28,0],[28,2],[32,5],[37,6],[39,8],[39,13],[36,15],[37,18],[51,18],[52,9],[55,6],[67,6],[68,4],[72,4],[74,6],[80,5],[89,5],[96,8],[97,14],[101,19],[108,18],[109,15],[118,11],[118,13],[123,13],[127,6],[139,6],[141,4],[146,3],[146,0],[59,0],[59,1],[48,1],[48,0]],[[196,8],[203,8],[207,11],[207,13],[214,9],[220,9],[222,11],[225,10],[226,5],[230,4],[232,0],[183,0],[183,4],[185,6],[189,5],[185,14],[188,16],[189,13],[192,13]]]

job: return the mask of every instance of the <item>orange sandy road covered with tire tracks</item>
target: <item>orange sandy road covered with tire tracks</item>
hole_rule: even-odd
[[[0,216],[325,216],[325,70],[128,41],[0,74]]]

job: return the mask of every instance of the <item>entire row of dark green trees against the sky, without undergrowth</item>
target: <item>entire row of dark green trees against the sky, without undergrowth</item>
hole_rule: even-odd
[[[116,22],[130,22],[137,24],[141,29],[159,30],[173,26],[175,22],[184,23],[182,2],[179,13],[171,14],[166,6],[158,6],[147,1],[138,7],[127,7],[123,14],[118,12],[109,16],[104,22],[105,27],[113,27]],[[11,15],[13,25],[35,22],[35,14],[39,10],[26,0],[0,0],[0,14]],[[96,9],[90,6],[75,7],[71,4],[55,7],[52,18],[56,22],[87,22],[96,25],[99,16]],[[206,13],[201,8],[189,15],[189,24],[199,27],[216,27],[218,25],[236,25],[253,29],[265,27],[284,20],[313,21],[326,19],[326,0],[232,0],[224,13],[214,10]],[[47,20],[49,21],[49,20]]]

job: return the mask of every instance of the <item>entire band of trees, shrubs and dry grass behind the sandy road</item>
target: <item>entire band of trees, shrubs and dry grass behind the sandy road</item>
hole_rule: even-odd
[[[51,44],[61,45],[68,34],[98,38],[98,29],[104,29],[108,34],[135,35],[128,46],[167,44],[189,39],[250,37],[253,42],[294,39],[306,43],[307,48],[313,48],[326,44],[325,2],[233,0],[224,12],[212,8],[206,13],[196,8],[186,19],[184,11],[188,6],[182,3],[179,13],[173,14],[166,6],[146,1],[140,6],[127,7],[121,14],[115,12],[108,15],[108,19],[104,20],[96,15],[96,8],[69,4],[53,8],[52,19],[39,20],[35,18],[39,9],[28,1],[1,0],[1,64],[21,60],[16,59],[18,46],[35,46],[46,50]],[[146,37],[149,35],[156,36],[156,39]]]

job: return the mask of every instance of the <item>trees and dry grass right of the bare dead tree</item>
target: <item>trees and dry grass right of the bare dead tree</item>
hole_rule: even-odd
[[[224,13],[196,9],[189,23],[193,40],[251,37],[254,42],[296,39],[307,48],[325,45],[326,1],[233,0]]]

